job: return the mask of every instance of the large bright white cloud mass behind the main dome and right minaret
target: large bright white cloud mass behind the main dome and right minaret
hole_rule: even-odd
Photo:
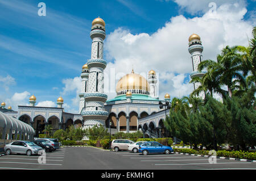
[[[115,74],[127,74],[132,66],[137,73],[147,73],[153,69],[159,73],[160,99],[166,92],[180,97],[190,94],[193,86],[188,81],[184,82],[192,71],[188,37],[192,33],[200,35],[204,60],[216,60],[217,54],[226,45],[247,46],[247,36],[250,38],[253,26],[249,20],[243,19],[246,8],[238,5],[221,5],[216,13],[206,12],[192,19],[183,15],[172,17],[170,22],[152,35],[133,35],[129,30],[118,28],[105,41],[106,59],[113,59],[105,73],[110,77],[110,70],[115,69]],[[105,86],[109,87],[110,81],[105,80]]]

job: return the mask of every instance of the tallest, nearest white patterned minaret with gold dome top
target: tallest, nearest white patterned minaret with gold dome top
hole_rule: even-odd
[[[86,107],[82,108],[81,115],[84,120],[84,129],[94,125],[104,125],[109,113],[105,111],[104,103],[108,96],[104,94],[104,69],[106,61],[103,60],[103,41],[105,39],[105,22],[96,18],[92,22],[92,57],[87,62],[89,68],[88,92],[84,93]]]

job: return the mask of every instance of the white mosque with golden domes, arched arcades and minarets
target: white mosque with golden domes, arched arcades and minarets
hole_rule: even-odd
[[[56,131],[65,130],[70,125],[86,129],[98,124],[111,128],[112,133],[132,133],[140,130],[144,137],[167,136],[163,120],[170,111],[161,110],[159,101],[164,104],[170,102],[170,95],[166,94],[163,100],[159,100],[158,77],[154,70],[148,71],[146,78],[131,70],[119,79],[115,87],[117,96],[108,100],[104,93],[104,69],[107,65],[103,59],[105,31],[104,20],[94,19],[90,32],[91,59],[82,66],[81,72],[79,114],[65,112],[61,96],[57,98],[57,107],[35,106],[36,97],[32,95],[28,100],[30,106],[18,106],[18,111],[13,111],[11,107],[6,109],[6,104],[2,103],[0,111],[34,128],[34,137],[43,134],[46,125],[52,125],[53,131]],[[193,34],[189,37],[188,51],[192,56],[191,78],[203,76],[204,72],[197,70],[203,52],[199,35]],[[200,85],[196,83],[194,89],[198,86]],[[203,97],[204,92],[200,96]]]

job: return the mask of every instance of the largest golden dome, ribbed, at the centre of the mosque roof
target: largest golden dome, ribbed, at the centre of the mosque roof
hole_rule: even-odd
[[[144,90],[150,92],[150,85],[146,78],[132,71],[130,74],[123,76],[117,82],[115,91],[120,92],[123,90]]]

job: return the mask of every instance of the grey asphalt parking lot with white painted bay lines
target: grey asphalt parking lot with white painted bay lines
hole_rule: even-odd
[[[40,155],[4,155],[0,169],[86,169],[86,170],[158,170],[158,169],[255,169],[256,163],[183,154],[131,153],[86,147],[65,147],[46,153],[46,163],[39,163]]]

